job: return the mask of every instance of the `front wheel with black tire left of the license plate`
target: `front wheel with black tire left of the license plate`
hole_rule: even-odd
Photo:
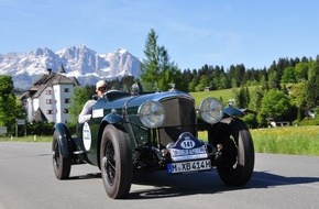
[[[125,198],[132,184],[132,153],[127,132],[108,124],[100,146],[101,176],[110,198]]]

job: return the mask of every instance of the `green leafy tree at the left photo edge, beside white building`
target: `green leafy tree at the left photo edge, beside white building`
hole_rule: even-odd
[[[11,76],[0,75],[0,127],[7,127],[9,133],[14,133],[15,119],[21,112],[16,107]]]

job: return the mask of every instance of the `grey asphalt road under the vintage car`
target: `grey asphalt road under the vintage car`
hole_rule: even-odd
[[[51,143],[0,143],[0,209],[319,208],[319,157],[256,154],[251,182],[222,184],[212,172],[135,174],[128,199],[107,197],[98,168],[76,165],[72,178],[53,174]]]

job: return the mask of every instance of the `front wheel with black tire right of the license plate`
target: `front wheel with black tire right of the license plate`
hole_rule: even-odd
[[[221,162],[217,170],[228,186],[243,186],[252,177],[254,169],[254,145],[246,124],[239,119],[223,119],[216,138],[222,144]]]

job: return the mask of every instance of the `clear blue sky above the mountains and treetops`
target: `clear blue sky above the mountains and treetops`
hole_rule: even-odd
[[[154,29],[180,69],[319,54],[317,0],[0,0],[0,54],[86,45],[145,58]]]

